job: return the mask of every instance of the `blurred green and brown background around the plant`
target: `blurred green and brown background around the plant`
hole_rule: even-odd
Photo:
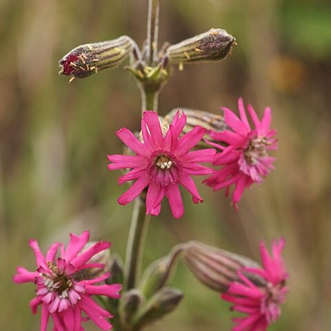
[[[117,68],[68,85],[57,61],[81,43],[128,34],[146,38],[147,0],[0,1],[0,325],[38,330],[28,301],[34,286],[14,285],[14,268],[34,268],[28,239],[43,249],[89,228],[124,255],[132,204],[117,205],[119,172],[106,154],[121,152],[114,132],[139,128],[140,96]],[[331,325],[331,6],[328,0],[162,0],[160,43],[210,28],[237,38],[221,63],[175,68],[160,113],[187,107],[237,110],[243,96],[259,114],[273,109],[277,170],[245,192],[234,214],[224,192],[172,218],[153,218],[145,265],[176,243],[197,239],[259,259],[259,241],[287,240],[288,302],[270,330],[319,331]],[[179,309],[149,330],[230,330],[229,305],[179,265]],[[91,328],[89,330],[94,330]]]

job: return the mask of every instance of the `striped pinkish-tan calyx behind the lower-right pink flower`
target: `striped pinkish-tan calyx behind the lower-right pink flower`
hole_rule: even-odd
[[[219,250],[198,241],[187,243],[184,259],[194,276],[204,285],[217,292],[226,292],[232,281],[240,281],[237,270],[259,268],[259,264],[241,255]],[[257,285],[265,282],[256,274],[243,272]]]

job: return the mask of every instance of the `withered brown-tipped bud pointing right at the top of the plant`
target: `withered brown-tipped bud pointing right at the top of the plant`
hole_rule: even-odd
[[[170,63],[179,63],[181,66],[188,63],[220,61],[231,53],[235,40],[225,30],[210,29],[170,46],[166,54]]]

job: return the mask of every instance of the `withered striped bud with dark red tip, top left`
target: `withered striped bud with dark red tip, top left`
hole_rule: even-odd
[[[100,70],[117,66],[133,49],[134,41],[128,36],[77,46],[59,61],[59,74],[75,78],[88,77]]]

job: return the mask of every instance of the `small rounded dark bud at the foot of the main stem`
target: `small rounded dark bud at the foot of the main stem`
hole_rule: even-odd
[[[122,322],[125,325],[130,325],[132,317],[137,312],[142,301],[143,297],[139,290],[132,289],[123,294],[120,301],[119,312],[121,314]]]

